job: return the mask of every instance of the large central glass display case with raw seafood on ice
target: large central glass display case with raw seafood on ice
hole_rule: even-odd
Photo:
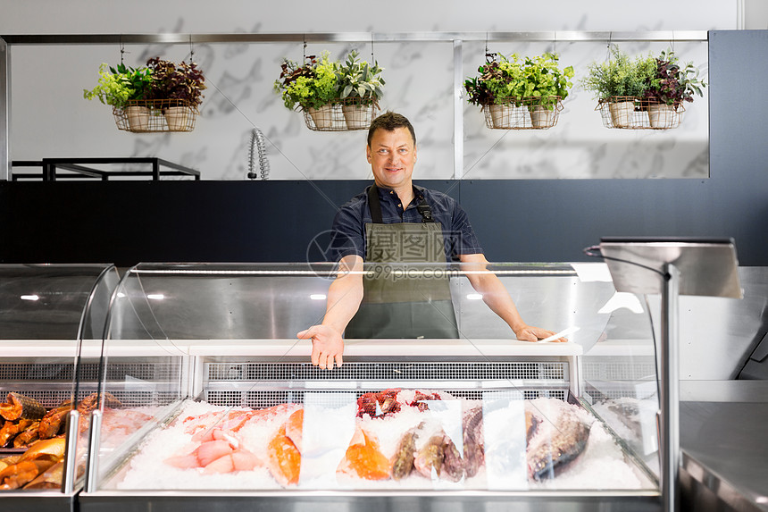
[[[312,365],[350,276],[444,281],[458,336]],[[516,340],[492,276],[568,342]],[[138,264],[104,332],[82,510],[661,507],[651,316],[603,264]]]

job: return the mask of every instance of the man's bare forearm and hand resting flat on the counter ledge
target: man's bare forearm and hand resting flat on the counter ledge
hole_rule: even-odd
[[[482,295],[483,302],[490,307],[491,311],[499,315],[509,325],[518,340],[538,341],[555,334],[555,332],[547,331],[546,329],[531,327],[522,321],[522,317],[517,311],[517,306],[514,306],[514,302],[506,291],[504,284],[499,281],[495,273],[486,271],[488,260],[485,258],[485,255],[460,255],[459,259],[463,263],[462,268],[464,270],[473,271],[467,273],[467,278],[470,280],[472,288]],[[480,272],[474,273],[478,271]],[[560,338],[557,341],[566,340]]]

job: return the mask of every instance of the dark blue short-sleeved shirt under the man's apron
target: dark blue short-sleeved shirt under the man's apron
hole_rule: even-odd
[[[480,242],[472,230],[466,212],[453,197],[437,190],[413,187],[414,198],[403,210],[400,198],[391,189],[379,187],[381,220],[385,224],[397,222],[422,223],[422,214],[416,206],[421,197],[426,199],[432,210],[432,218],[439,222],[446,246],[446,260],[456,261],[459,255],[480,254]],[[337,262],[343,256],[357,255],[365,259],[365,224],[371,221],[371,209],[368,207],[368,189],[350,199],[341,206],[333,220],[333,234],[326,255],[331,262]]]

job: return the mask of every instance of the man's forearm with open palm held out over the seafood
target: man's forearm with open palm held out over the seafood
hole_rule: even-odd
[[[321,368],[332,368],[333,360],[341,366],[344,362],[344,340],[341,333],[352,320],[363,300],[363,258],[356,255],[344,256],[339,262],[338,275],[330,283],[325,316],[320,325],[314,325],[296,337],[312,339],[312,364]]]

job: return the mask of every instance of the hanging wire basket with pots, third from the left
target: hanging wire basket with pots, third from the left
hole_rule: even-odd
[[[491,130],[547,130],[557,124],[563,110],[559,96],[504,99],[504,105],[483,106],[485,124]]]

